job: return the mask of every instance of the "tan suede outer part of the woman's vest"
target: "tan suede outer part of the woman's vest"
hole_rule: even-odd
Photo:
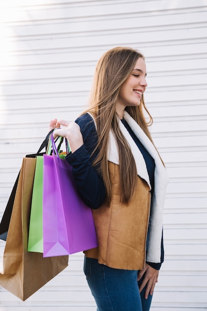
[[[109,162],[112,202],[92,210],[97,248],[84,251],[90,258],[111,268],[139,270],[145,266],[150,192],[147,183],[138,176],[138,190],[129,205],[120,203],[119,165]]]

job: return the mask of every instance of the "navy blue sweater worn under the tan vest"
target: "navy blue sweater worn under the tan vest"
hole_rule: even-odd
[[[92,156],[92,152],[97,145],[97,132],[93,119],[89,114],[84,114],[77,118],[75,122],[79,125],[80,131],[83,137],[83,145],[76,150],[74,153],[66,156],[66,160],[72,166],[72,173],[74,180],[78,189],[78,193],[82,200],[92,209],[99,208],[105,199],[106,188],[104,186],[102,177],[100,175],[99,167],[94,167],[91,165],[97,152]],[[122,123],[129,131],[133,140],[137,144],[143,158],[146,162],[146,168],[149,175],[149,180],[151,184],[151,195],[154,192],[154,169],[155,163],[154,159],[149,155],[146,149],[138,140],[137,136],[134,134],[128,123],[123,119]],[[149,224],[150,227],[150,224]],[[164,249],[163,249],[163,239],[161,241],[161,262],[164,259]],[[159,270],[161,263],[149,263],[150,266]]]

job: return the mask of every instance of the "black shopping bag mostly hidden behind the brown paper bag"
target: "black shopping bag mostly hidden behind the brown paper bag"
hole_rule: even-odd
[[[41,144],[38,152],[36,154],[27,155],[26,157],[36,157],[37,155],[43,156],[43,154],[45,152],[42,152],[42,151],[43,151],[44,148],[47,150],[48,142],[50,141],[51,132],[49,132],[48,135],[46,136],[46,138],[43,141],[43,143]],[[50,150],[51,150],[51,148],[50,148]],[[19,171],[19,173],[17,175],[16,181],[15,181],[15,183],[13,185],[13,189],[11,191],[11,194],[9,196],[8,202],[6,204],[6,208],[5,208],[3,216],[1,218],[1,222],[0,222],[0,239],[2,239],[2,240],[6,240],[6,237],[7,237],[8,227],[9,227],[11,213],[12,213],[12,209],[13,209],[14,198],[15,198],[15,194],[16,194],[16,188],[17,188],[17,184],[18,184],[18,180],[19,180],[19,174],[20,174],[20,171]]]

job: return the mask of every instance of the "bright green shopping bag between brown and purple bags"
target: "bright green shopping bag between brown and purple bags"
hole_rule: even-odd
[[[32,192],[28,251],[43,253],[43,156],[37,156]]]

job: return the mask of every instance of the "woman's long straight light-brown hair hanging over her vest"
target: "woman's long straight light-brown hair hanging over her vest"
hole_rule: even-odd
[[[132,73],[139,57],[144,59],[141,53],[132,48],[113,48],[100,58],[94,74],[90,94],[90,107],[87,111],[94,116],[97,126],[98,144],[96,149],[98,149],[98,156],[93,165],[100,164],[108,203],[112,199],[107,159],[110,130],[114,133],[119,150],[120,202],[128,204],[137,189],[138,179],[135,159],[128,142],[120,131],[116,103],[119,98],[120,88]],[[146,122],[144,117],[144,110],[148,114],[148,122]],[[135,119],[152,142],[147,128],[152,124],[152,118],[145,107],[143,95],[139,106],[126,107],[126,111]]]

